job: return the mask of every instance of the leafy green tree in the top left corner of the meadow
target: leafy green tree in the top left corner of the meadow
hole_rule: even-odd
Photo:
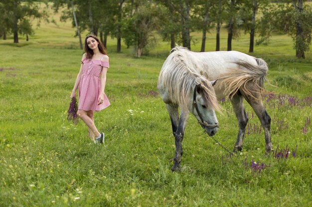
[[[18,33],[31,34],[29,18],[45,17],[45,11],[39,11],[39,5],[34,0],[0,0],[4,11],[4,23],[13,33],[14,43],[18,43]],[[5,31],[6,32],[6,31]]]

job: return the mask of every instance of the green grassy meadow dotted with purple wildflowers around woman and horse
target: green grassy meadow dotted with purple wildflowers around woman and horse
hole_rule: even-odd
[[[312,206],[311,52],[297,60],[292,39],[275,34],[252,54],[267,61],[268,80],[278,86],[266,84],[274,95],[263,101],[273,147],[276,153],[289,148],[287,159],[264,155],[264,133],[245,104],[250,121],[238,158],[228,157],[190,116],[181,171],[172,173],[171,124],[156,93],[169,44],[159,41],[137,59],[125,46],[115,53],[116,39],[109,39],[106,94],[112,105],[95,114],[106,134],[103,146],[91,143],[83,122],[66,121],[83,54],[73,34],[68,22],[43,23],[29,42],[0,40],[1,207]],[[192,50],[199,51],[200,34],[192,38]],[[208,35],[207,51],[214,50],[214,38],[214,32]],[[248,43],[242,34],[232,48],[246,53]],[[228,100],[220,105],[214,138],[232,149],[237,120]]]

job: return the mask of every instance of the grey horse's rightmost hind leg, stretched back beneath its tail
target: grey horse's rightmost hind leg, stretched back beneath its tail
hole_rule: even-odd
[[[271,143],[271,117],[269,116],[269,114],[267,113],[267,111],[263,106],[260,94],[255,95],[255,97],[247,95],[245,96],[245,99],[255,111],[257,117],[260,120],[261,126],[264,129],[264,135],[266,140],[266,154],[268,154],[273,149]]]

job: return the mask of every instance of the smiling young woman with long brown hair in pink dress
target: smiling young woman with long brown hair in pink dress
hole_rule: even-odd
[[[85,39],[85,54],[70,98],[76,97],[78,88],[78,116],[88,126],[89,137],[95,143],[104,143],[105,135],[94,124],[93,113],[110,105],[105,95],[106,73],[109,58],[103,44],[95,35]]]

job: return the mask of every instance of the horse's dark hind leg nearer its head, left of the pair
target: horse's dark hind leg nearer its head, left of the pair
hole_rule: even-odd
[[[248,117],[247,117],[247,114],[246,114],[246,111],[244,108],[243,101],[244,101],[244,97],[242,96],[240,91],[238,91],[231,98],[231,103],[232,103],[235,115],[237,117],[238,126],[239,126],[238,135],[237,135],[236,143],[234,146],[234,151],[236,151],[236,150],[241,151],[242,150],[243,139],[244,139],[244,135],[245,135],[245,129],[246,129],[246,125],[248,122]]]

